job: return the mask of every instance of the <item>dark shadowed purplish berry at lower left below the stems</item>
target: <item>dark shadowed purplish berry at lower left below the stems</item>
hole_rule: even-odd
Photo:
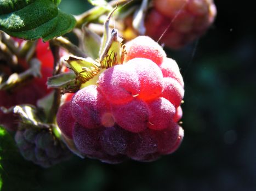
[[[15,142],[21,155],[44,168],[70,158],[70,151],[58,140],[49,129],[32,127],[18,130]]]

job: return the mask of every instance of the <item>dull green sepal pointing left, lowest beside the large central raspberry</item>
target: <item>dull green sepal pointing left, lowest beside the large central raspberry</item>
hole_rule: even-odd
[[[67,84],[69,84],[75,78],[76,78],[76,75],[73,72],[62,73],[62,74],[49,77],[47,80],[47,85],[48,87],[52,87],[52,88],[64,88]]]

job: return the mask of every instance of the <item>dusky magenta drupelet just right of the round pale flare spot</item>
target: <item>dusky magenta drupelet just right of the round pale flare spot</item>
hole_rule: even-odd
[[[150,115],[147,104],[140,99],[133,99],[123,105],[113,105],[112,114],[120,127],[134,133],[147,128]]]

